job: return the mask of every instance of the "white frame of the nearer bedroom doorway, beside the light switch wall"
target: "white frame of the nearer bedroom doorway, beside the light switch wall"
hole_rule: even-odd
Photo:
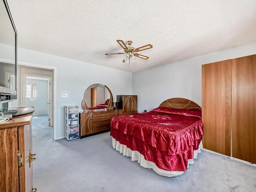
[[[8,62],[8,63],[14,64],[13,60],[10,60],[10,59],[0,58],[0,62]],[[57,138],[57,130],[56,130],[56,127],[57,127],[57,121],[56,121],[56,116],[57,116],[57,112],[56,112],[56,109],[57,109],[56,108],[56,104],[57,104],[56,103],[56,100],[57,100],[56,99],[57,98],[57,67],[40,65],[40,64],[24,62],[24,61],[17,61],[17,65],[53,70],[53,140],[61,139],[62,137]],[[17,73],[17,78],[19,78],[18,73]],[[17,83],[17,89],[20,89],[18,83]]]

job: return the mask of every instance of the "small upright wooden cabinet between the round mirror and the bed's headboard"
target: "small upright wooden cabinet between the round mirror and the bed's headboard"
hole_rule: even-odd
[[[116,100],[122,106],[123,115],[138,113],[137,95],[117,95]]]

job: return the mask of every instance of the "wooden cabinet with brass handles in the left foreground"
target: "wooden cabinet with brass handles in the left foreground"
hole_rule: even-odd
[[[0,123],[0,191],[33,188],[32,113]]]

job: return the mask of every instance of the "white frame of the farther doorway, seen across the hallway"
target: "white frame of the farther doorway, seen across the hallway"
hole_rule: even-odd
[[[23,82],[22,82],[22,92],[21,92],[21,95],[22,95],[22,102],[20,103],[20,105],[23,105],[25,106],[26,105],[26,82],[27,82],[27,77],[35,77],[35,79],[38,79],[40,80],[46,80],[48,81],[48,102],[51,103],[51,105],[49,106],[48,105],[48,116],[49,116],[49,119],[51,119],[51,123],[49,126],[53,126],[53,123],[54,122],[54,118],[53,118],[53,87],[50,88],[50,86],[52,86],[51,84],[49,84],[50,82],[53,84],[53,77],[51,76],[44,76],[44,75],[34,75],[34,74],[26,74],[24,73],[23,74]]]

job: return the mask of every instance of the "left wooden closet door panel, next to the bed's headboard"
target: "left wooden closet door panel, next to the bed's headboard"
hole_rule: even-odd
[[[202,65],[204,148],[231,156],[231,60]]]

